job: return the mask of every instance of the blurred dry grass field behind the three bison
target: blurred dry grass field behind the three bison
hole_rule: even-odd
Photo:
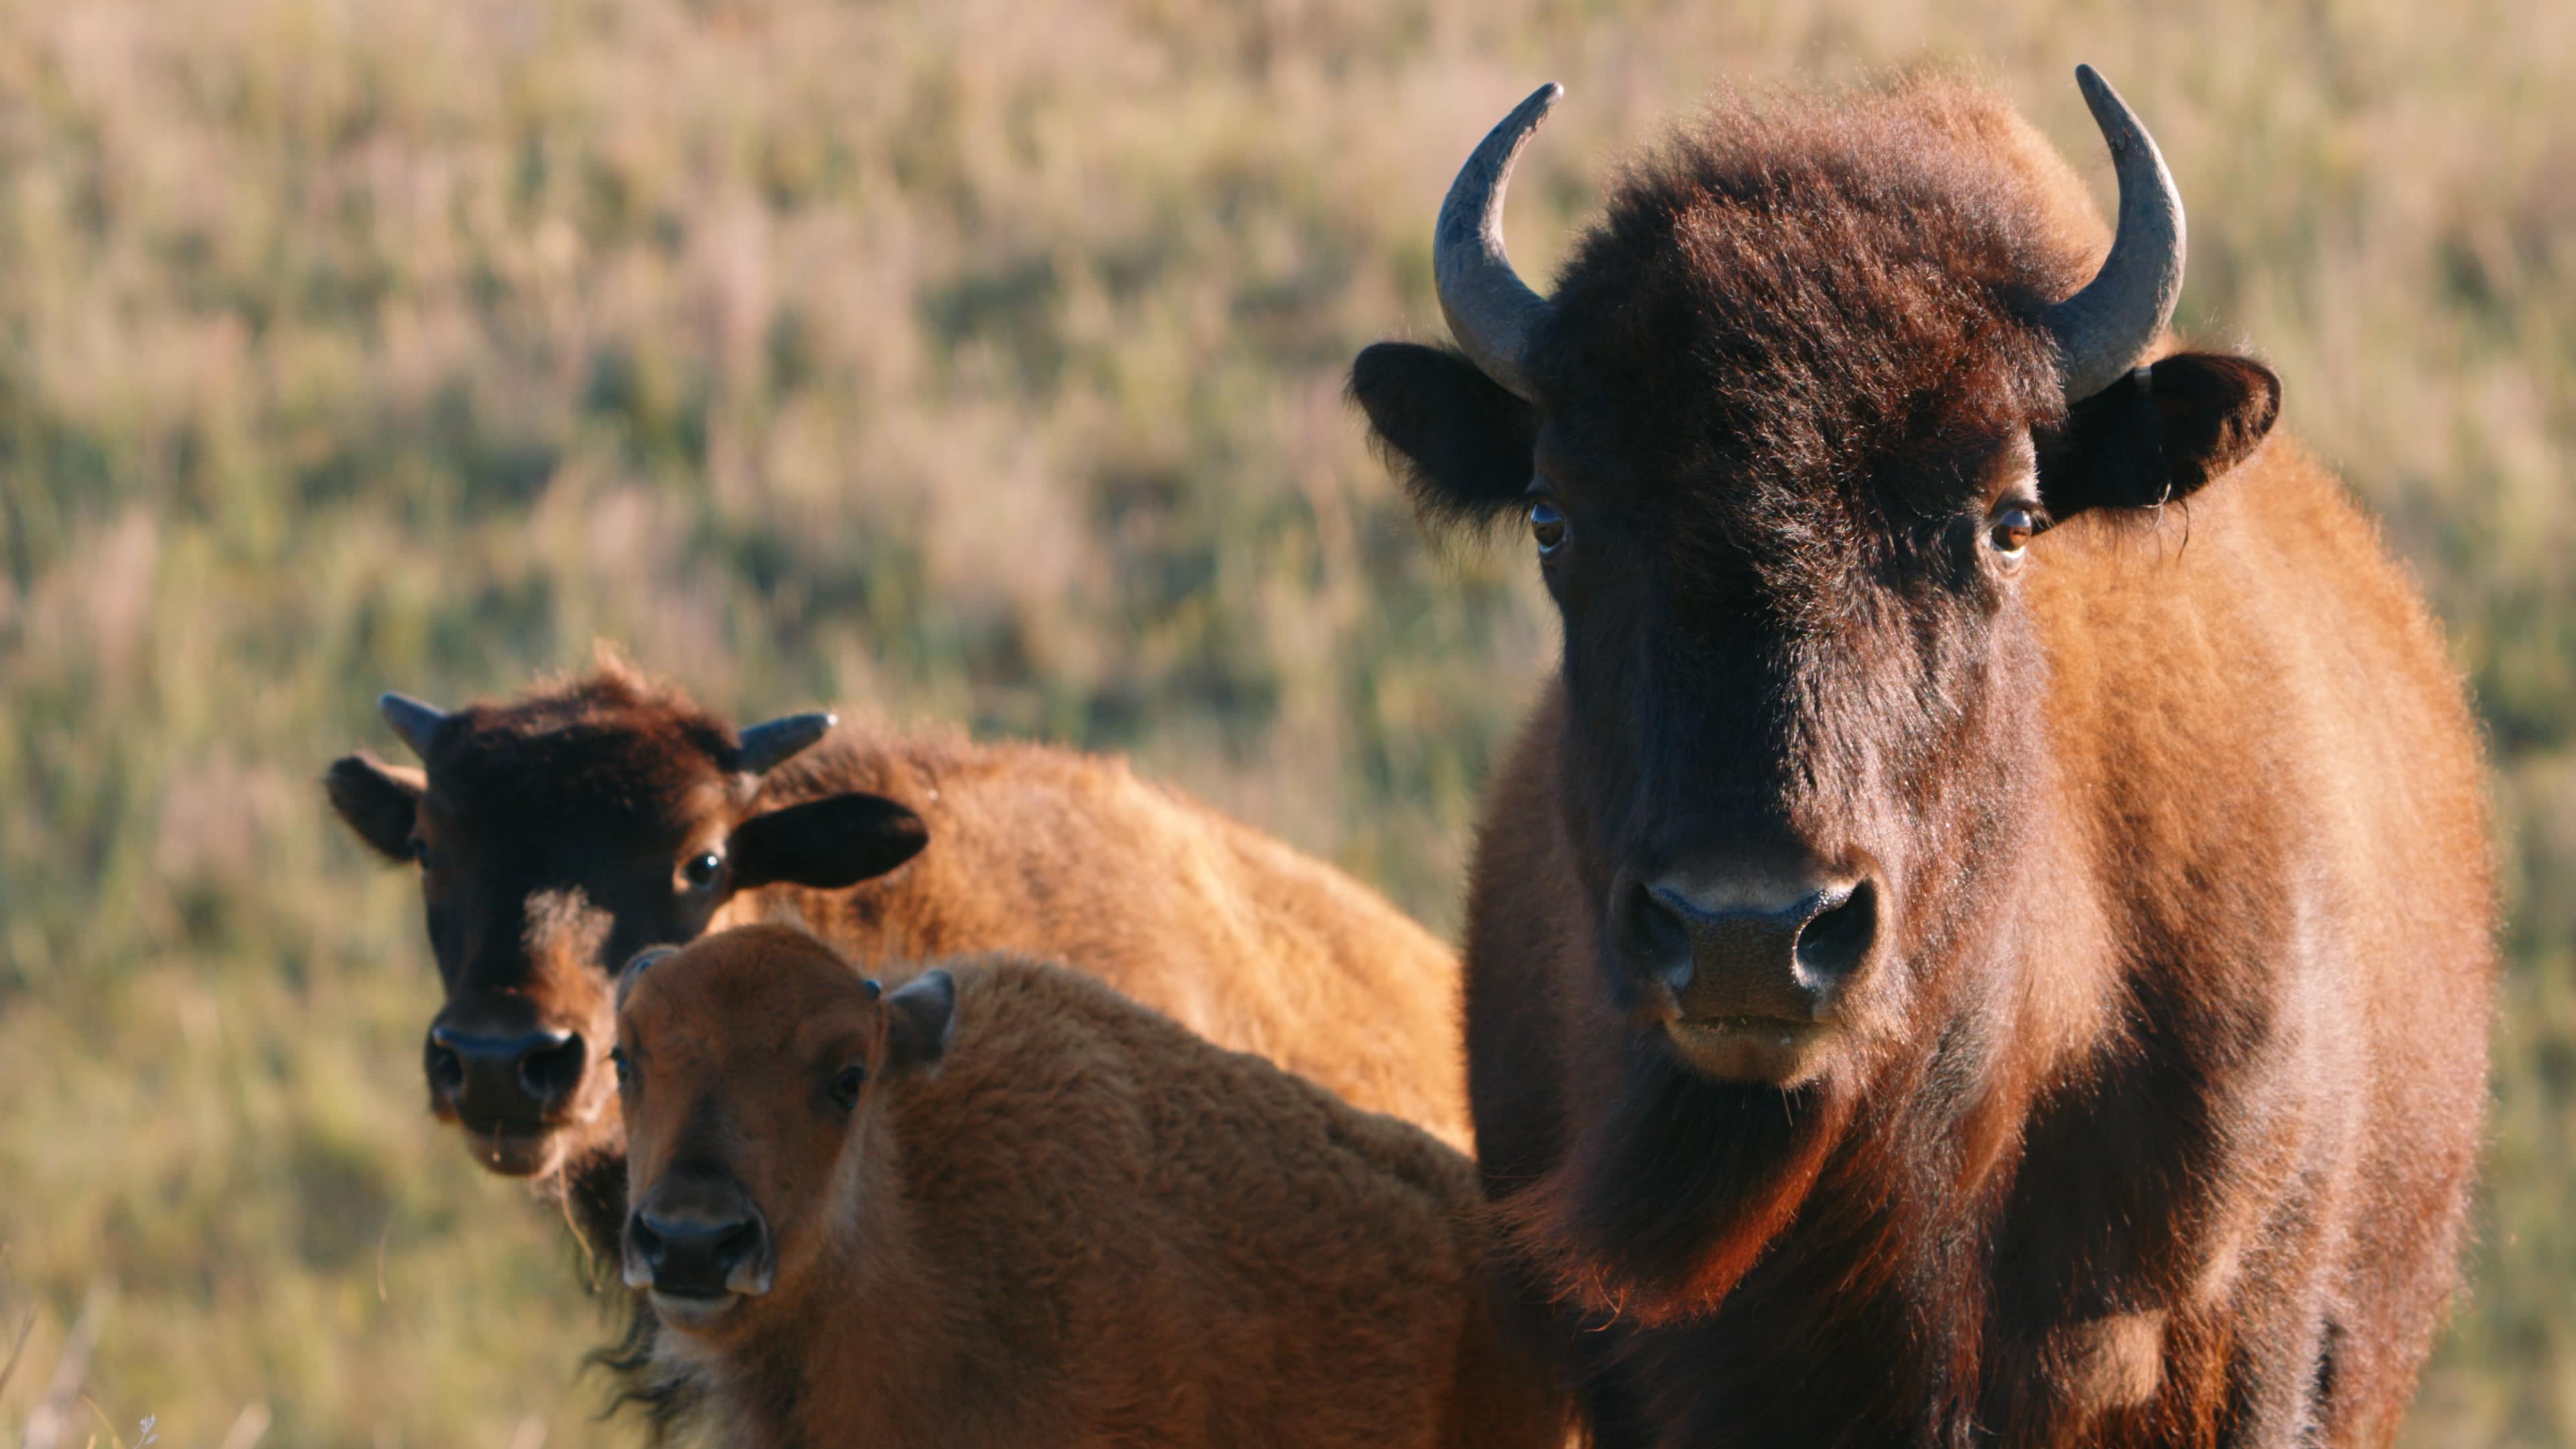
[[[1131,750],[1450,928],[1553,627],[1340,387],[1437,335],[1466,147],[1569,83],[1543,276],[1721,80],[1971,67],[2107,186],[2076,59],[2184,183],[2184,325],[2280,366],[2491,722],[2494,1147],[2411,1439],[2576,1441],[2563,0],[0,3],[0,1436],[59,1379],[67,1444],[631,1439],[314,786],[381,686],[608,637]]]

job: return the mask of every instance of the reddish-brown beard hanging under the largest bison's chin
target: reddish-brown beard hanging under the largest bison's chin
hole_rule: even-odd
[[[1713,1312],[1798,1217],[1850,1116],[1850,1091],[1832,1075],[1795,1088],[1731,1083],[1633,1049],[1564,1163],[1499,1214],[1520,1256],[1582,1307],[1643,1325],[1690,1320]]]

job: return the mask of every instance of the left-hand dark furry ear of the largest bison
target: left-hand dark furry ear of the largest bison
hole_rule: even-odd
[[[1448,348],[1376,343],[1350,397],[1432,523],[1481,523],[1530,490],[1538,415]]]

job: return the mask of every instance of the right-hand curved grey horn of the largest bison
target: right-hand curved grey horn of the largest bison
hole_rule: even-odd
[[[2076,85],[2120,175],[2120,232],[2084,291],[2045,315],[2066,369],[2066,402],[2084,402],[2138,366],[2182,299],[2182,193],[2174,191],[2174,173],[2164,170],[2156,139],[2102,72],[2079,64]]]

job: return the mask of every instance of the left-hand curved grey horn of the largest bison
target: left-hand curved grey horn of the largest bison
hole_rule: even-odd
[[[1458,180],[1440,201],[1440,224],[1432,229],[1432,284],[1458,351],[1522,400],[1530,397],[1525,374],[1530,333],[1548,315],[1548,299],[1520,281],[1502,250],[1502,193],[1512,183],[1520,147],[1530,144],[1564,93],[1566,88],[1553,80],[1540,85],[1484,134],[1458,168]]]

